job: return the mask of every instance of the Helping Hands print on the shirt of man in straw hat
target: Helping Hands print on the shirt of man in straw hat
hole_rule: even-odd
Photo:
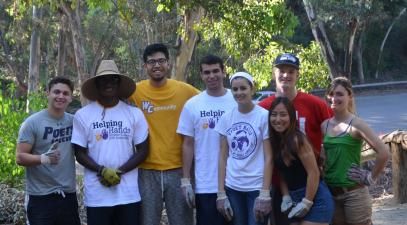
[[[123,121],[102,121],[92,123],[92,129],[95,130],[96,141],[107,139],[127,139],[130,136],[131,129],[123,125]]]

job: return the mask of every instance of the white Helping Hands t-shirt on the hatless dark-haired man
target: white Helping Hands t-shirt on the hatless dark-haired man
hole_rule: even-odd
[[[219,97],[206,91],[189,99],[182,109],[177,133],[194,138],[195,192],[218,192],[220,136],[214,130],[220,117],[236,106],[230,90]]]

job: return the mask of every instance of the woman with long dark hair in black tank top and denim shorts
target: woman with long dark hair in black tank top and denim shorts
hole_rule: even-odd
[[[314,151],[298,129],[296,111],[288,98],[277,97],[273,101],[269,131],[274,165],[282,179],[281,211],[288,213],[291,224],[329,224],[333,199],[320,180]]]

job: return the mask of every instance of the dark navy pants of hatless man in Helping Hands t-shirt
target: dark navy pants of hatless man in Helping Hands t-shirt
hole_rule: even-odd
[[[231,225],[216,209],[216,193],[195,194],[196,225]]]

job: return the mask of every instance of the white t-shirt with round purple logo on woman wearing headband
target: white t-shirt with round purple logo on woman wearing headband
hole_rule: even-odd
[[[225,185],[237,191],[260,190],[263,185],[263,140],[269,138],[268,111],[255,105],[247,114],[234,108],[215,130],[227,137],[229,156]]]

